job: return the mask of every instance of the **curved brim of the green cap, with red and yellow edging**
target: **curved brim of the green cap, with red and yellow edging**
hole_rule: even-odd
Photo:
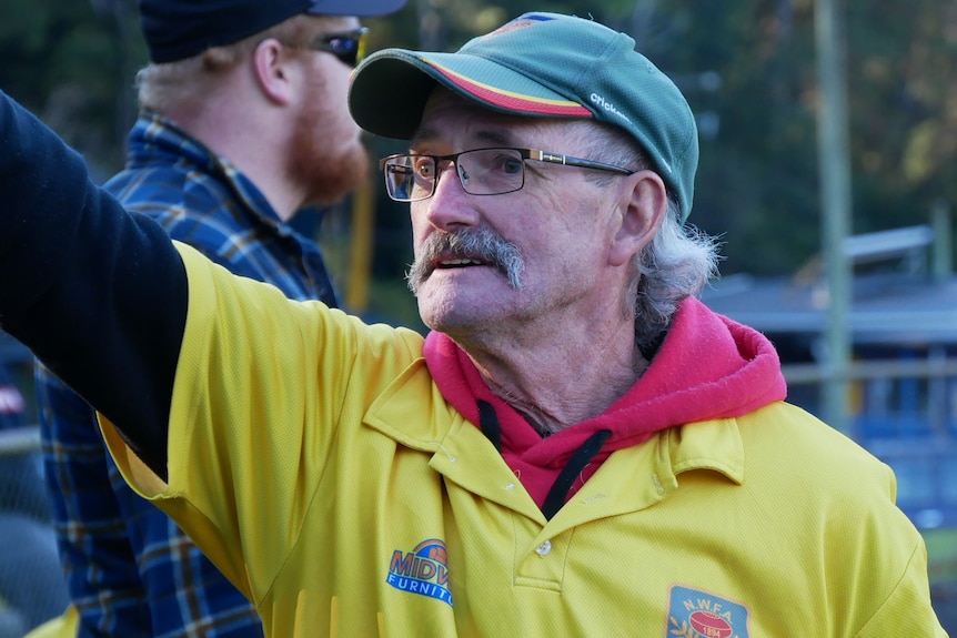
[[[404,49],[377,51],[359,67],[350,87],[350,110],[366,131],[407,140],[436,85],[504,113],[593,117],[578,102],[486,58]]]

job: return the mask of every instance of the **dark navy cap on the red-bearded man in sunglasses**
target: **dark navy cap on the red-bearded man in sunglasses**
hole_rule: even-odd
[[[140,0],[152,62],[192,58],[238,42],[300,13],[384,16],[406,0]]]

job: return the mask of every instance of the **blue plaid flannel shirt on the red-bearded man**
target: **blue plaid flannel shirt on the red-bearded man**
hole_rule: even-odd
[[[141,114],[107,188],[232,272],[335,305],[319,246],[282,223],[228,160]],[[254,608],[183,533],[119,476],[92,409],[37,366],[44,467],[78,636],[262,636]],[[117,392],[123,392],[117,388]]]

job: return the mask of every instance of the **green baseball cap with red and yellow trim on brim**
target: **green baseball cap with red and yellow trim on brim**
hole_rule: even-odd
[[[534,12],[454,53],[383,49],[353,74],[349,108],[366,131],[409,140],[436,85],[494,111],[594,118],[627,131],[677,201],[682,222],[687,219],[698,161],[694,114],[629,36],[584,18]]]

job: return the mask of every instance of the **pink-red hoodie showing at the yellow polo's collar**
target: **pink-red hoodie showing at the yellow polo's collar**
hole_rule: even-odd
[[[477,401],[495,408],[502,456],[540,507],[572,454],[597,431],[612,435],[583,470],[582,483],[615,449],[676,425],[741,416],[787,393],[770,342],[693,297],[682,303],[651,366],[624,396],[603,414],[547,438],[491,393],[472,359],[451,338],[430,333],[424,354],[442,395],[465,418],[478,424]]]

